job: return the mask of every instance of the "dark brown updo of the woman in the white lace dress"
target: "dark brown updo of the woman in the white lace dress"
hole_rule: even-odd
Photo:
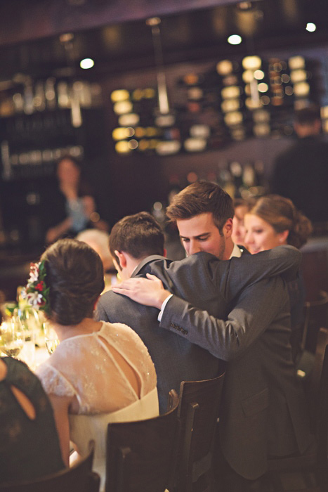
[[[103,263],[85,242],[60,239],[41,256],[46,266],[50,318],[60,325],[77,325],[92,317],[104,288]]]

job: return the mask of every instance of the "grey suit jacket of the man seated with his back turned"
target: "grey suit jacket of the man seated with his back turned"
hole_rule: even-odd
[[[181,261],[148,257],[136,268],[133,276],[155,273],[166,288],[197,305],[199,297],[218,316],[228,315],[229,303],[245,285],[258,278],[285,272],[293,276],[301,254],[292,247],[281,247],[257,256],[219,261],[211,254],[199,253]],[[215,287],[208,289],[209,285]],[[106,292],[100,297],[96,317],[112,323],[126,323],[147,346],[155,363],[161,412],[166,410],[170,389],[179,390],[181,381],[202,380],[218,374],[221,361],[208,350],[180,337],[176,330],[162,330],[157,321],[159,311],[141,306],[128,297]]]

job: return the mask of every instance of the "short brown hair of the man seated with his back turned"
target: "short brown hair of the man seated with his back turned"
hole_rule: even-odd
[[[135,259],[164,253],[164,233],[148,212],[127,215],[110,232],[110,253],[117,262],[115,251],[124,251]]]

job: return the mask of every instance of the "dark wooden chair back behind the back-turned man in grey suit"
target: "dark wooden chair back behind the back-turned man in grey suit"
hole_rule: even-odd
[[[178,417],[181,438],[176,484],[178,492],[192,491],[202,475],[211,470],[211,454],[221,403],[225,366],[211,380],[181,382]]]

